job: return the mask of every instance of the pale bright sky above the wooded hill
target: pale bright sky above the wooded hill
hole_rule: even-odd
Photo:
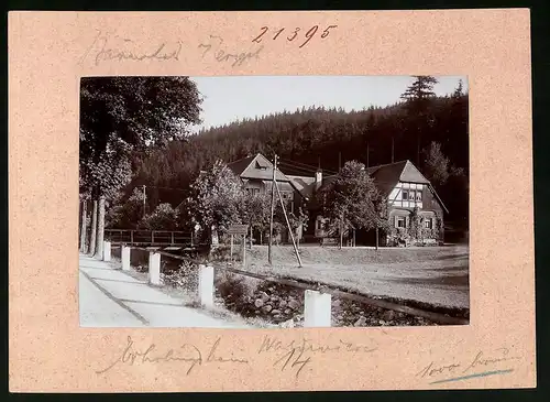
[[[341,107],[346,111],[387,106],[399,100],[414,78],[409,76],[230,76],[190,77],[205,97],[202,124],[209,128],[237,119],[305,106]],[[437,95],[451,94],[465,76],[437,77]]]

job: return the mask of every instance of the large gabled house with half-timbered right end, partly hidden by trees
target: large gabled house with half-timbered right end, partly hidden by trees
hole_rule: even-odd
[[[271,191],[274,166],[264,155],[251,155],[229,163],[228,167],[243,181],[251,194]],[[391,229],[378,233],[377,243],[408,246],[443,241],[443,214],[448,210],[431,183],[410,161],[371,166],[366,171],[387,202]],[[334,180],[336,175],[323,177],[321,170],[312,176],[285,174],[279,169],[275,173],[283,198],[290,202],[290,211],[302,205],[308,208],[310,221],[306,237],[318,241],[334,236],[327,230],[328,222],[322,217],[322,202],[317,199],[316,195],[321,187]],[[353,243],[374,245],[375,236],[374,230],[353,232]],[[350,240],[352,232],[346,232],[345,237]]]

